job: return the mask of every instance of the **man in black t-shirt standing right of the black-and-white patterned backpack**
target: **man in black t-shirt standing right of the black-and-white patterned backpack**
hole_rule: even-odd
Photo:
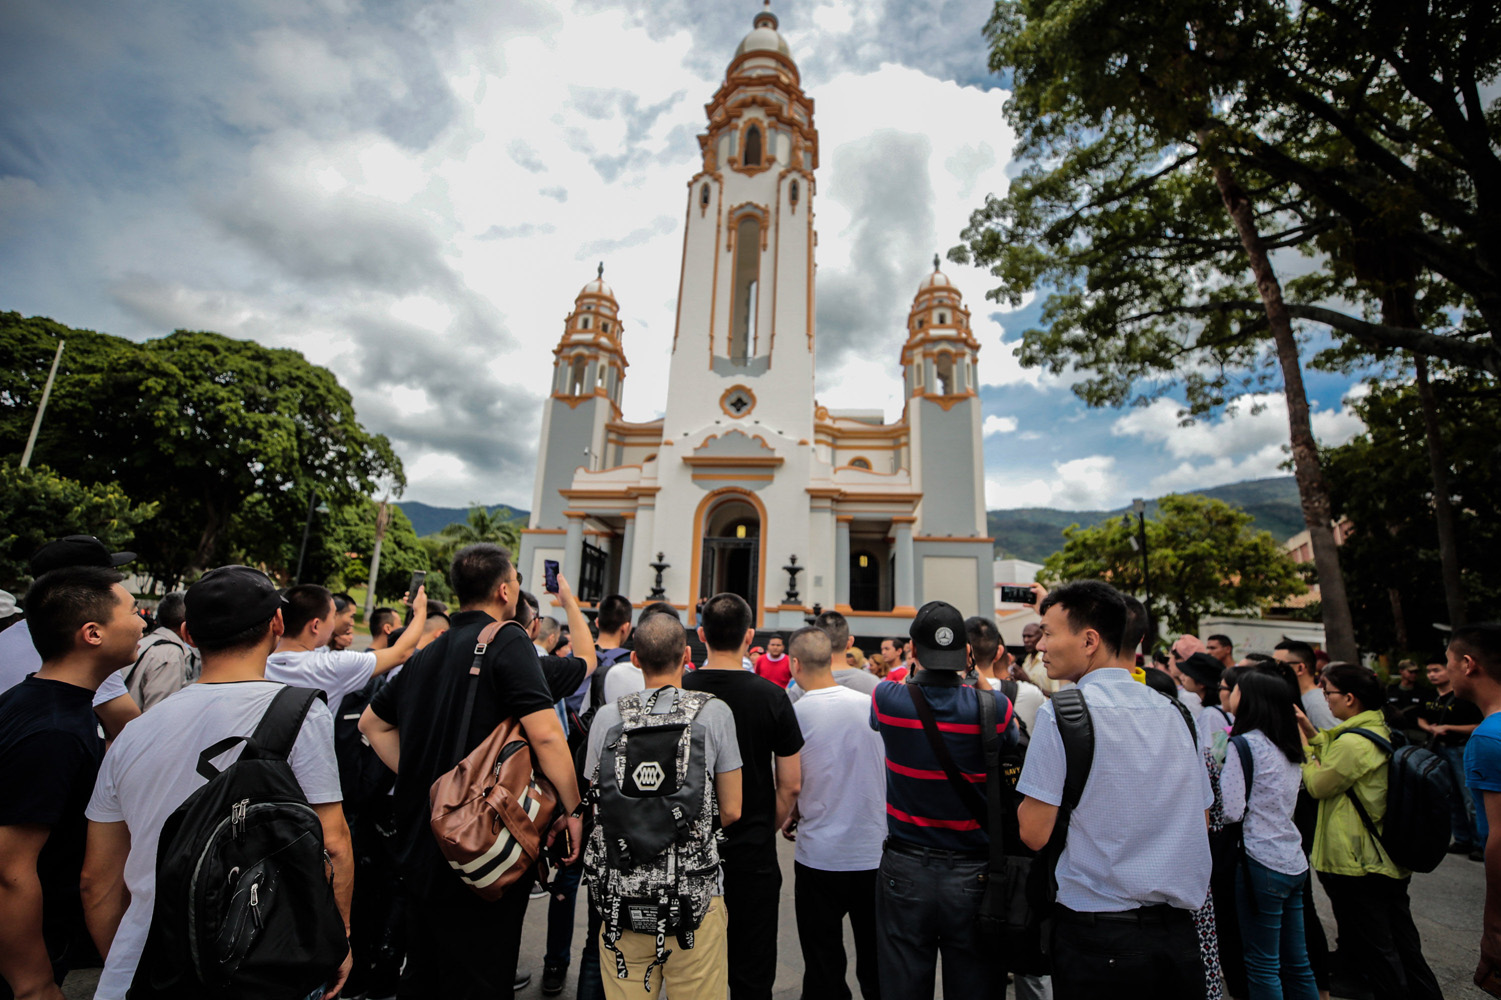
[[[754,625],[744,598],[732,593],[710,598],[698,628],[708,661],[683,677],[684,689],[707,691],[729,706],[740,743],[740,820],[725,830],[720,850],[729,914],[731,1000],[772,995],[782,895],[775,836],[793,814],[803,784],[803,731],[787,691],[741,667],[755,640]]]

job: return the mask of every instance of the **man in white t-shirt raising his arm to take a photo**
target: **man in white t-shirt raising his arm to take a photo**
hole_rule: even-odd
[[[338,710],[347,694],[359,691],[393,667],[407,662],[417,649],[428,623],[428,593],[417,587],[411,599],[411,622],[389,649],[374,652],[329,649],[329,638],[338,628],[333,593],[317,584],[299,584],[287,590],[282,617],[287,634],[276,643],[276,652],[266,661],[266,679],[296,688],[317,688]]]

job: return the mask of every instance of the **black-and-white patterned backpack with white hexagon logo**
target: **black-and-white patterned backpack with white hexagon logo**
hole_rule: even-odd
[[[590,899],[603,916],[605,947],[624,931],[656,938],[651,970],[671,955],[666,938],[693,947],[719,881],[719,805],[698,713],[713,695],[659,688],[620,698],[620,722],[605,734],[593,773],[594,829],[584,853]]]

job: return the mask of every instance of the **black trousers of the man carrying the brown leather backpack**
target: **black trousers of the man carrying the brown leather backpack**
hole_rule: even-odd
[[[515,995],[528,874],[495,902],[458,877],[426,896],[407,896],[407,967],[398,1000],[510,1000]]]

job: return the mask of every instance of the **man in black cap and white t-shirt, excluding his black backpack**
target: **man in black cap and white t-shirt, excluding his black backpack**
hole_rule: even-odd
[[[107,955],[96,1000],[123,1000],[146,944],[156,901],[156,845],[162,824],[206,784],[198,754],[230,736],[255,731],[284,685],[266,680],[266,656],[282,635],[282,598],[249,566],[222,566],[188,590],[185,632],[203,655],[203,673],[132,722],[105,754],[89,802],[84,919]],[[215,758],[231,763],[239,746]],[[333,895],[350,922],[354,860],[333,757],[333,715],[314,701],[287,758],[323,824]],[[339,970],[338,985],[348,976]]]

